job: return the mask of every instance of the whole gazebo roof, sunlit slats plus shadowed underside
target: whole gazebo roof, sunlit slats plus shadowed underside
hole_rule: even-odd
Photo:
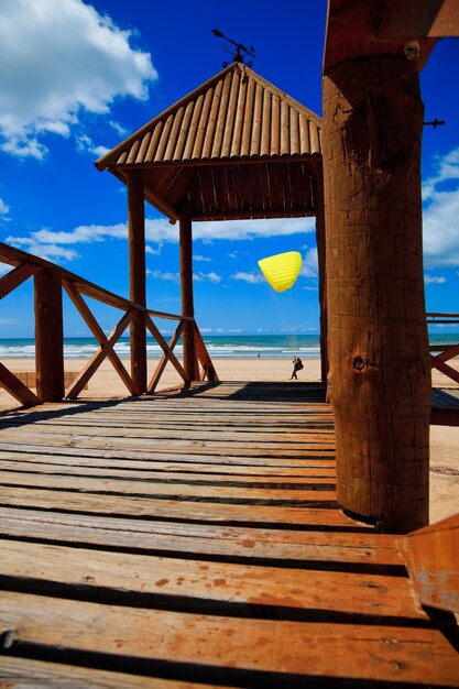
[[[96,162],[175,220],[315,215],[320,118],[234,63]]]

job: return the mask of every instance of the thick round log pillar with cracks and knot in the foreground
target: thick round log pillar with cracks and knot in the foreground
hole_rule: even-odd
[[[428,521],[430,363],[416,66],[364,57],[324,77],[330,395],[337,494],[391,532]]]

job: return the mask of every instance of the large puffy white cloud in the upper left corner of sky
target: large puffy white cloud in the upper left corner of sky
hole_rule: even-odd
[[[117,98],[146,99],[157,74],[132,36],[83,0],[2,0],[0,147],[43,158],[46,133],[68,136]]]

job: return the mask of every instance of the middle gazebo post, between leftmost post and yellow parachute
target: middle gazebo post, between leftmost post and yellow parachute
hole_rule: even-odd
[[[182,288],[182,316],[195,316],[195,305],[193,298],[193,232],[189,207],[184,205],[181,209],[179,218],[181,237],[181,288]],[[196,351],[195,351],[195,329],[193,320],[185,325],[182,336],[184,351],[184,369],[187,382],[197,380]]]

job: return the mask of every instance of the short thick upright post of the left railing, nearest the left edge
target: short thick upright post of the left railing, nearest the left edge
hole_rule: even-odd
[[[33,281],[36,394],[41,402],[58,402],[65,395],[61,274],[43,267],[36,271]]]

